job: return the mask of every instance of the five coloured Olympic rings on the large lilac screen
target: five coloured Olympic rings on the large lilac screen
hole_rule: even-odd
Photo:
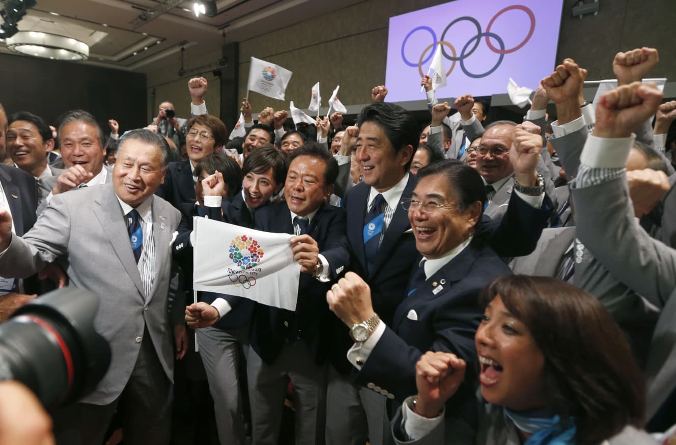
[[[493,23],[496,21],[496,19],[498,17],[502,16],[502,14],[504,14],[506,11],[510,11],[512,9],[518,9],[518,10],[524,11],[528,15],[528,17],[531,21],[531,24],[530,24],[530,29],[528,31],[528,35],[526,36],[525,39],[523,39],[523,41],[521,43],[519,43],[515,47],[505,49],[504,41],[502,41],[502,38],[500,38],[500,36],[498,36],[498,34],[491,32],[491,27],[493,26]],[[454,24],[456,24],[458,22],[462,22],[462,21],[468,21],[471,24],[473,24],[477,28],[477,34],[474,37],[472,37],[471,39],[469,39],[469,41],[467,43],[465,43],[464,47],[462,47],[462,51],[460,51],[460,56],[458,56],[458,54],[456,53],[456,48],[453,45],[451,45],[451,43],[449,43],[448,41],[445,41],[445,37],[446,37],[446,34],[448,33],[448,30],[450,30],[450,28]],[[420,73],[420,77],[422,78],[423,76],[425,76],[425,73],[423,73],[423,64],[426,64],[427,62],[429,62],[429,60],[434,55],[434,51],[430,51],[430,49],[436,47],[437,43],[440,43],[441,44],[441,53],[443,54],[443,57],[445,57],[446,60],[450,60],[450,61],[453,62],[450,70],[448,70],[448,72],[446,72],[446,77],[448,77],[451,74],[451,72],[453,72],[454,68],[456,68],[456,62],[460,62],[460,70],[462,70],[462,72],[464,72],[464,74],[466,76],[471,77],[471,78],[482,78],[482,77],[485,77],[485,76],[489,76],[495,70],[498,69],[500,64],[502,64],[502,60],[504,59],[505,54],[509,54],[509,53],[513,53],[514,51],[518,51],[518,49],[521,49],[523,47],[523,45],[528,43],[528,41],[531,39],[531,37],[533,37],[533,31],[534,30],[535,30],[535,14],[533,14],[533,11],[531,11],[531,9],[529,7],[526,7],[524,5],[511,5],[511,6],[505,7],[503,9],[501,9],[500,11],[498,11],[498,13],[495,16],[493,16],[493,18],[491,18],[491,21],[488,23],[488,26],[486,27],[485,32],[481,31],[481,24],[479,24],[479,21],[477,19],[473,18],[473,17],[470,17],[470,16],[458,17],[458,18],[456,18],[456,20],[453,20],[452,22],[450,22],[446,26],[446,28],[443,30],[443,32],[441,33],[441,39],[440,40],[437,40],[437,34],[429,26],[417,26],[416,28],[413,28],[412,30],[410,30],[410,32],[408,32],[408,34],[406,34],[406,37],[404,37],[404,42],[402,43],[402,60],[404,61],[404,64],[406,64],[408,66],[411,66],[413,68],[418,67],[418,72]],[[415,64],[413,62],[410,62],[410,60],[408,60],[406,58],[406,54],[404,53],[404,47],[406,47],[406,42],[408,41],[408,38],[411,37],[411,35],[414,32],[417,32],[417,31],[427,31],[427,32],[429,32],[432,36],[433,42],[423,50],[423,53],[420,54],[420,59],[418,60],[418,63]],[[481,43],[481,37],[485,37],[486,45],[488,46],[488,48],[491,51],[493,51],[493,53],[499,54],[500,57],[498,57],[498,62],[495,64],[495,66],[493,66],[493,68],[491,68],[487,72],[476,74],[476,73],[473,73],[473,72],[469,72],[467,70],[467,68],[464,64],[464,60],[467,57],[469,57],[470,55],[472,55],[474,53],[474,51],[476,51],[477,47],[479,47],[479,43]],[[491,39],[494,39],[495,41],[498,42],[498,45],[500,45],[500,49],[496,48],[495,45],[493,45],[493,43],[491,42]],[[472,45],[473,43],[474,43],[474,45]],[[470,45],[471,45],[471,48],[470,48]],[[451,51],[451,53],[453,55],[450,55],[448,53],[448,51],[446,51],[446,49]],[[430,51],[430,53],[429,53],[429,55],[427,55],[427,57],[425,57],[425,55],[427,54],[427,51]]]

